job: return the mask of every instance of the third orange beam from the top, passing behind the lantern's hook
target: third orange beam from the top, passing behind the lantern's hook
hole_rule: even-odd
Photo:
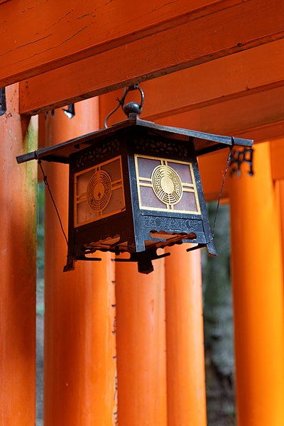
[[[192,109],[246,97],[284,85],[284,40],[244,50],[196,67],[148,80],[143,118],[155,121]],[[87,84],[87,80],[85,80]],[[107,116],[122,91],[100,97],[100,114]],[[131,95],[129,95],[130,97]],[[133,96],[133,94],[132,94]],[[24,103],[24,100],[23,100]],[[23,107],[23,104],[22,104]],[[116,113],[109,124],[123,117]]]

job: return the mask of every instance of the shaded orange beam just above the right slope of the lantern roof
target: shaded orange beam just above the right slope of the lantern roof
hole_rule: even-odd
[[[163,117],[165,126],[267,141],[284,135],[284,87]]]

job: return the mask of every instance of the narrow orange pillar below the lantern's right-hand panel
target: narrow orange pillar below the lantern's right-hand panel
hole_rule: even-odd
[[[168,426],[205,426],[200,251],[185,249],[165,258]]]

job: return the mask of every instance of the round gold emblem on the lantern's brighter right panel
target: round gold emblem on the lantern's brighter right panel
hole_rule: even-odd
[[[152,185],[155,196],[164,204],[177,204],[182,198],[182,181],[178,173],[168,165],[154,168]]]

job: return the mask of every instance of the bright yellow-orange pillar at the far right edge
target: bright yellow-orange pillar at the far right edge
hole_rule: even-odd
[[[255,175],[230,180],[231,256],[239,426],[284,425],[284,316],[280,221],[269,143]]]

